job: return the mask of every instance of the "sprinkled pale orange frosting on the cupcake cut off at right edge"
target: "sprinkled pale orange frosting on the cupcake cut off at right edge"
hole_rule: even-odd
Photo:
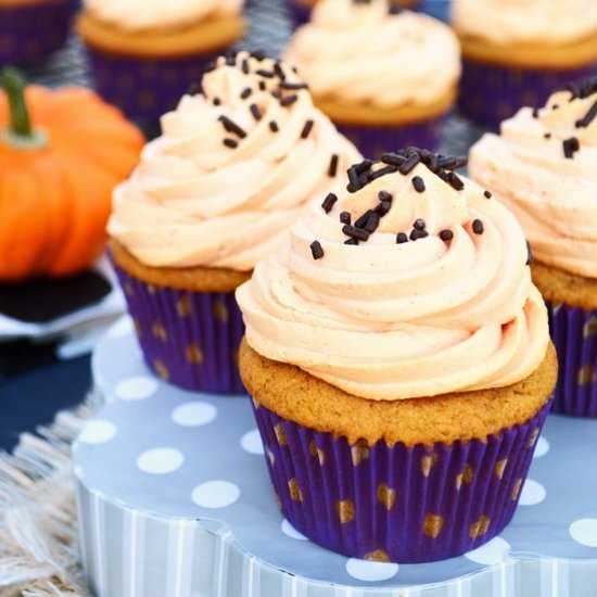
[[[597,79],[485,135],[470,173],[517,215],[537,261],[597,278]]]

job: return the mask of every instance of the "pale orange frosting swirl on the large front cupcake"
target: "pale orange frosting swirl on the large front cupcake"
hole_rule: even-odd
[[[345,244],[340,214],[354,223],[380,204],[380,191],[392,195],[390,211],[366,242]],[[417,236],[418,219],[422,238],[397,243],[399,232]],[[446,231],[452,240],[442,240]],[[526,259],[510,212],[475,183],[465,179],[458,191],[419,164],[329,213],[314,204],[237,298],[249,344],[267,358],[364,398],[434,396],[505,386],[539,366],[547,314]]]

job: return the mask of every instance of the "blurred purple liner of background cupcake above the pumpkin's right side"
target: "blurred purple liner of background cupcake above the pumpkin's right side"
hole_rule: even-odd
[[[218,53],[141,59],[87,48],[94,87],[134,120],[151,123],[174,110],[193,82],[199,84]]]

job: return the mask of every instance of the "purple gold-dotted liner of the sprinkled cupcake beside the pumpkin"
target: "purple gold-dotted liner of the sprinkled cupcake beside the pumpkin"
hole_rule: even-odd
[[[187,390],[245,393],[238,365],[244,323],[233,292],[158,288],[115,270],[152,371]]]

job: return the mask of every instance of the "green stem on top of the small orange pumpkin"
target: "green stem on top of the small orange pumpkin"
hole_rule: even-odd
[[[38,149],[46,145],[43,131],[31,126],[29,111],[25,100],[25,76],[13,66],[0,71],[2,87],[9,100],[9,128],[0,131],[1,138],[15,149]]]

